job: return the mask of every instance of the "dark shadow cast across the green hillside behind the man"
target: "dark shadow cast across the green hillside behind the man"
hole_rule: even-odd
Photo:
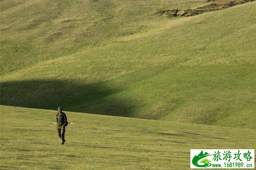
[[[1,105],[129,116],[130,100],[113,98],[119,92],[102,83],[78,85],[72,81],[16,81],[1,83]]]

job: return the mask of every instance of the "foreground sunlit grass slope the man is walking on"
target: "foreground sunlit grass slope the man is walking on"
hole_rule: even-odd
[[[190,149],[254,149],[252,129],[1,106],[1,169],[188,169]],[[254,155],[255,157],[255,155]],[[15,165],[13,164],[15,162]]]

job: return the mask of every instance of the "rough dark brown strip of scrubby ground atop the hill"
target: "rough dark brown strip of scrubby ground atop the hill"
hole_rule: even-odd
[[[224,4],[209,4],[205,5],[196,9],[188,9],[188,10],[179,10],[179,9],[173,9],[173,10],[160,10],[157,11],[156,13],[163,15],[164,13],[167,15],[167,17],[179,17],[179,16],[184,16],[184,17],[190,17],[194,15],[199,15],[204,12],[211,12],[211,11],[218,11],[218,10],[223,10],[235,5],[240,5],[244,4],[247,2],[252,2],[255,0],[236,0],[236,1],[229,1],[228,3]]]

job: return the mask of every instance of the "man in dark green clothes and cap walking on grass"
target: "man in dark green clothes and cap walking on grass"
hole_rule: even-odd
[[[65,127],[68,125],[67,116],[64,112],[62,112],[62,108],[58,108],[58,113],[56,115],[57,119],[57,133],[58,136],[62,139],[62,143],[64,144],[65,140]]]

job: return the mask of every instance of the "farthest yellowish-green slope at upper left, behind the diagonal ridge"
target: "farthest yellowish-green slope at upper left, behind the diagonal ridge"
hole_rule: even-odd
[[[204,4],[198,0],[1,0],[1,74],[151,30],[166,20],[155,14],[157,10]]]

